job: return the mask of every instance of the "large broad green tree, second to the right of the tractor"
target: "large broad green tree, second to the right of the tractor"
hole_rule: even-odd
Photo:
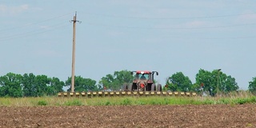
[[[196,84],[203,85],[203,91],[211,96],[215,96],[217,93],[228,94],[230,91],[239,89],[235,78],[220,70],[210,72],[200,69],[196,74]]]

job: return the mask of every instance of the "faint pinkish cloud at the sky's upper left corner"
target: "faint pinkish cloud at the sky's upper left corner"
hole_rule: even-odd
[[[29,10],[29,6],[27,4],[19,6],[0,5],[0,14],[19,14],[26,10]]]

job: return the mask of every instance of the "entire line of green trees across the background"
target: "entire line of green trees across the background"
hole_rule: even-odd
[[[97,91],[97,90],[121,90],[126,83],[131,83],[134,76],[129,70],[114,71],[114,74],[106,74],[97,83],[91,78],[82,78],[75,76],[74,90]],[[215,96],[216,94],[228,94],[232,91],[238,91],[239,87],[235,78],[224,74],[220,70],[198,70],[195,77],[196,82],[192,83],[190,78],[182,72],[170,75],[166,79],[163,90],[170,91],[194,91],[201,94]],[[71,78],[65,82],[59,78],[50,78],[46,75],[35,74],[14,74],[8,73],[0,77],[0,97],[40,97],[56,95],[67,87],[70,91]],[[256,94],[256,77],[249,82],[249,91]]]

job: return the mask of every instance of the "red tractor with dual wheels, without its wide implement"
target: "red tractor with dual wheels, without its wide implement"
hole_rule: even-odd
[[[162,91],[162,85],[158,84],[157,86],[154,84],[154,74],[158,75],[157,71],[131,71],[132,75],[134,75],[133,83],[130,85],[125,85],[124,90],[130,91]],[[135,74],[134,74],[135,73]]]

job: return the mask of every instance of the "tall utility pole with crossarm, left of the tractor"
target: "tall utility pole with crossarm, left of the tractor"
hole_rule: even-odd
[[[73,22],[73,50],[72,50],[72,76],[71,76],[71,92],[74,92],[74,62],[75,62],[75,26],[77,21],[77,12],[75,12]]]

